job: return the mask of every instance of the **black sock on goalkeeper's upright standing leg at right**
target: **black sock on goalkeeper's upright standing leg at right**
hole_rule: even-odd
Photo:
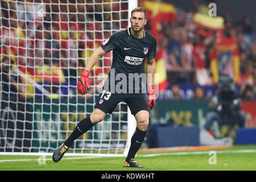
[[[134,159],[136,153],[139,150],[139,147],[141,147],[142,143],[144,142],[146,133],[147,131],[141,131],[138,129],[138,127],[136,127],[133,137],[131,137],[131,146],[130,146],[128,155],[125,159],[126,161],[130,159]]]

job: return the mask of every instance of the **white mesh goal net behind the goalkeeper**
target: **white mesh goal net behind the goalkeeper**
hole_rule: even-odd
[[[77,92],[77,79],[93,51],[127,28],[129,2],[3,0],[0,9],[0,152],[50,155],[92,113],[112,52],[91,71],[85,96]],[[128,112],[119,104],[77,139],[69,154],[122,155]]]

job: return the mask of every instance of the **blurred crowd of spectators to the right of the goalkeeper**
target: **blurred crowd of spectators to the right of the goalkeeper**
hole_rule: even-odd
[[[234,46],[233,52],[236,53],[233,58],[226,59],[225,56],[230,55],[225,55],[225,53],[230,50],[227,48],[223,52],[220,51],[216,57],[219,64],[222,64],[217,67],[218,72],[233,77],[243,100],[255,100],[256,42],[251,17],[245,15],[239,22],[233,22],[230,11],[226,9],[218,13],[224,19],[223,30],[211,32],[210,28],[207,30],[208,27],[204,27],[202,30],[198,28],[192,17],[197,13],[208,15],[209,2],[205,1],[200,4],[193,1],[187,10],[177,10],[174,22],[161,22],[159,47],[164,48],[166,52],[164,60],[168,83],[173,94],[171,98],[182,99],[182,97],[177,97],[177,93],[180,92],[180,84],[197,84],[193,90],[196,93],[194,94],[195,98],[198,97],[196,95],[200,92],[201,86],[217,84],[213,78],[214,65],[212,62],[216,47],[220,47],[220,39],[226,38],[229,43],[225,43],[224,40],[223,45]],[[150,27],[148,27],[148,31],[150,31]],[[232,54],[232,50],[229,53]],[[234,68],[233,65],[236,54],[238,55],[238,68]],[[238,73],[235,73],[234,69],[237,69]],[[205,90],[202,90],[199,94],[204,92]]]

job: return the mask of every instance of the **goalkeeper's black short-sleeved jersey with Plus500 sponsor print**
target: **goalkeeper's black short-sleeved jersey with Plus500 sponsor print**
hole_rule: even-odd
[[[143,61],[154,59],[156,56],[156,39],[146,31],[143,31],[143,38],[137,39],[131,35],[131,28],[121,29],[110,36],[101,48],[105,52],[113,50],[112,71],[109,77],[117,76],[123,73],[126,76],[129,73],[143,73]],[[110,71],[111,72],[111,71]],[[128,80],[127,80],[128,81]],[[115,79],[115,84],[118,81]],[[141,85],[140,85],[141,86]]]

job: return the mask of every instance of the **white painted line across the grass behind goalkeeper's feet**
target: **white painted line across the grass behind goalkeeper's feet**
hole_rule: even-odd
[[[228,151],[216,151],[217,154],[238,154],[238,153],[256,153],[256,150],[228,150]],[[162,154],[145,154],[137,155],[138,157],[154,157],[154,156],[164,156],[164,155],[201,155],[209,154],[209,151],[197,151],[197,152],[172,152],[172,153],[162,153]],[[76,157],[76,158],[63,158],[62,160],[71,160],[71,159],[93,159],[93,158],[104,158],[106,156],[85,156],[85,157]],[[15,159],[15,160],[0,160],[1,162],[19,162],[19,161],[31,161],[38,159]],[[52,160],[52,159],[45,159]]]

